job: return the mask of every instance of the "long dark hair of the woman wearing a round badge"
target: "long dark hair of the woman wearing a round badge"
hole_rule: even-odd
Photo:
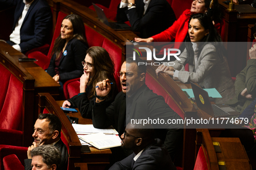
[[[64,19],[68,19],[72,24],[72,27],[73,27],[72,39],[78,39],[84,42],[85,44],[87,44],[86,37],[85,37],[84,22],[81,19],[81,17],[75,14],[71,14],[71,15],[65,16]],[[61,33],[60,33],[58,38],[56,38],[56,40],[54,41],[54,46],[52,49],[52,55],[56,53],[56,59],[60,57],[61,51],[65,46],[65,43],[66,43],[66,40],[61,38]]]

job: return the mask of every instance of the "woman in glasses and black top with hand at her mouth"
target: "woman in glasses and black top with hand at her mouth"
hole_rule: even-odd
[[[64,101],[62,107],[78,107],[82,117],[91,119],[93,103],[96,99],[96,84],[105,79],[113,82],[110,93],[107,95],[108,107],[115,99],[118,91],[114,78],[114,63],[108,52],[102,47],[90,47],[82,61],[84,74],[80,78],[80,93],[73,98]]]

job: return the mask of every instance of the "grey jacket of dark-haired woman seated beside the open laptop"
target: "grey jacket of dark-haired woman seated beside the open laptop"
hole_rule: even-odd
[[[180,70],[178,79],[183,82],[198,83],[204,88],[216,88],[222,98],[215,98],[215,103],[222,104],[235,96],[234,83],[232,81],[226,57],[223,61],[217,56],[216,48],[212,44],[207,44],[198,56],[196,66],[189,65],[189,72],[185,71],[185,60],[187,50],[185,49],[179,59],[174,61],[174,69]],[[195,62],[194,62],[195,65]]]

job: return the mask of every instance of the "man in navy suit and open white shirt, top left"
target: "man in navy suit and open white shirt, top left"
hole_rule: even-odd
[[[22,53],[46,44],[52,29],[52,12],[45,0],[0,0],[16,6],[8,44]]]

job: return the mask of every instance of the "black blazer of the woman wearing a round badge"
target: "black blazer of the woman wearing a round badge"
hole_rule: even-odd
[[[88,47],[78,39],[72,39],[68,41],[65,48],[67,55],[62,55],[60,63],[58,65],[59,80],[64,83],[67,80],[81,77],[84,69],[81,61],[86,56],[86,50]],[[50,65],[47,69],[47,73],[50,76],[55,76],[55,58],[56,54],[53,54]]]

